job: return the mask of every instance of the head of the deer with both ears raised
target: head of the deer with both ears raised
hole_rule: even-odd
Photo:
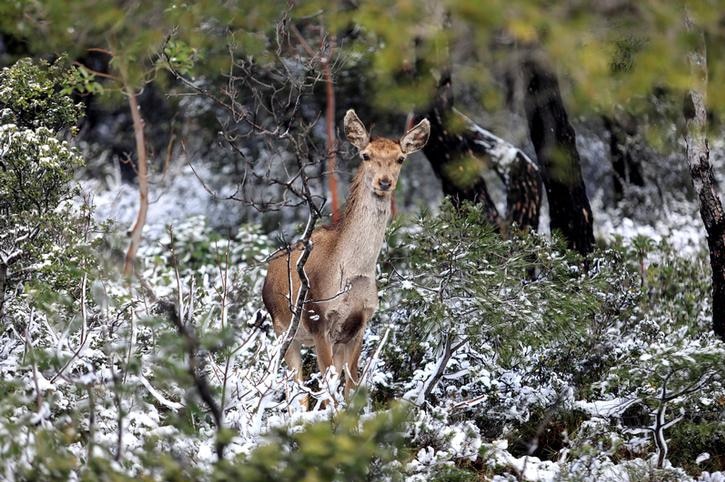
[[[345,114],[345,136],[357,147],[363,162],[364,182],[372,192],[384,199],[389,198],[398,183],[400,168],[408,154],[419,151],[425,146],[430,134],[430,122],[423,119],[400,138],[393,141],[385,138],[370,139],[365,125],[355,111]]]

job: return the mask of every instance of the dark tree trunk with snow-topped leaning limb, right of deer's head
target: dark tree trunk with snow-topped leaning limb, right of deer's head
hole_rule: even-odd
[[[450,73],[444,73],[438,85],[436,98],[426,116],[431,123],[431,134],[423,152],[440,178],[443,193],[450,196],[455,206],[464,201],[480,204],[490,223],[505,231],[511,223],[520,228],[536,230],[541,205],[541,178],[538,169],[520,150],[506,144],[490,132],[476,125],[453,108]],[[451,132],[451,121],[463,123],[463,130]],[[515,152],[501,172],[492,153]],[[488,192],[486,182],[475,169],[469,178],[457,175],[456,166],[466,160],[481,159],[493,164],[507,188],[506,217],[503,218]],[[475,163],[475,161],[472,161]]]

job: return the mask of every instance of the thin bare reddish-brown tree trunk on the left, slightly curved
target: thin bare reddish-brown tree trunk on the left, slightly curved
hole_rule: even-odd
[[[136,138],[136,156],[138,159],[137,176],[138,176],[138,194],[139,206],[136,222],[131,230],[131,243],[126,252],[126,260],[123,265],[123,274],[131,276],[136,261],[136,253],[141,244],[141,233],[146,224],[146,214],[149,209],[149,179],[148,179],[148,159],[146,156],[146,138],[144,137],[144,121],[141,117],[141,111],[136,99],[136,93],[124,85],[124,90],[128,96],[128,107],[131,109],[131,119],[133,120],[133,132]]]

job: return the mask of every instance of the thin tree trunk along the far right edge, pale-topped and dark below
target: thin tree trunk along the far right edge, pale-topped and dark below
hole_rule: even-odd
[[[705,37],[696,32],[687,13],[687,30],[697,33],[698,45],[690,53],[694,85],[685,97],[683,113],[687,122],[687,162],[695,192],[700,201],[700,216],[707,231],[712,268],[712,327],[725,340],[725,214],[710,164],[707,142],[707,56]]]

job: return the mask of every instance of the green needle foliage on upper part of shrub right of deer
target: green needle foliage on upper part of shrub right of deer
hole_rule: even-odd
[[[502,240],[475,206],[457,212],[446,205],[419,226],[394,238],[389,257],[410,273],[392,273],[390,282],[402,288],[397,310],[421,334],[490,343],[515,364],[521,344],[585,350],[601,326],[633,304],[629,290],[636,285],[630,274],[617,273],[616,253],[585,273],[582,260],[558,243],[535,235]],[[623,288],[618,297],[604,294],[615,287]]]

